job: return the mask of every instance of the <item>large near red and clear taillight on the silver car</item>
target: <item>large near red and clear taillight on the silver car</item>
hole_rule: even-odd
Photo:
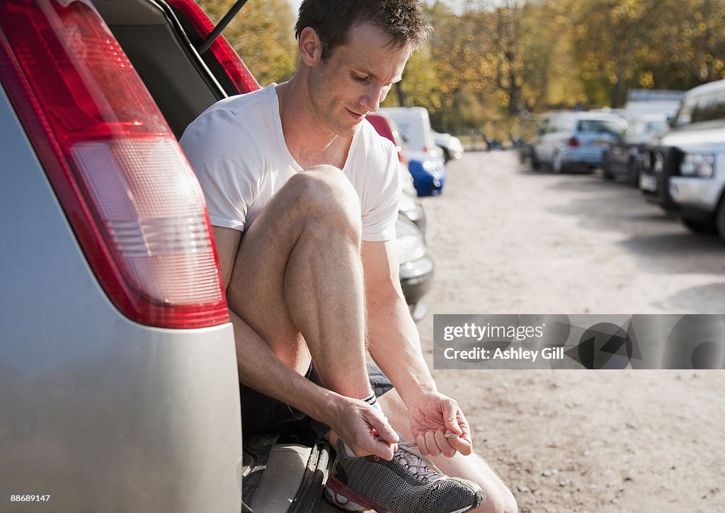
[[[199,183],[95,9],[1,2],[0,80],[117,308],[162,328],[227,322]]]

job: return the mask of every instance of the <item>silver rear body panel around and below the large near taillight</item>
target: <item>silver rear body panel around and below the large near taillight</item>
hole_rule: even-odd
[[[3,491],[48,494],[54,511],[239,512],[231,324],[169,330],[123,317],[2,88],[0,120]],[[3,511],[16,506],[27,510]]]

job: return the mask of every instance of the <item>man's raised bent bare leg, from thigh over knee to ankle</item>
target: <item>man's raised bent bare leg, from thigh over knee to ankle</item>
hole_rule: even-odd
[[[282,362],[304,374],[311,355],[323,385],[352,398],[370,394],[360,232],[340,170],[299,173],[244,233],[227,288],[230,309]]]

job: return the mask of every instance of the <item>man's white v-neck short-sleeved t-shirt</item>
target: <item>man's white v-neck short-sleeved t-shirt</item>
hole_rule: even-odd
[[[244,231],[302,172],[284,142],[275,86],[218,101],[179,141],[202,185],[212,225]],[[342,171],[360,199],[365,241],[395,237],[402,187],[397,165],[393,144],[361,122]]]

